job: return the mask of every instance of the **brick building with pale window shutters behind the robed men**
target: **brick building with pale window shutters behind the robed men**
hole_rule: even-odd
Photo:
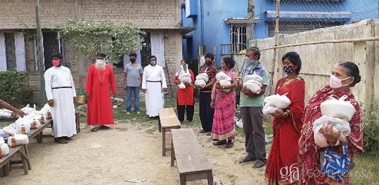
[[[172,76],[182,59],[182,35],[191,28],[182,28],[181,0],[40,0],[45,68],[53,52],[62,52],[65,66],[73,73],[77,92],[83,92],[86,69],[90,62],[72,44],[58,39],[54,27],[68,18],[91,17],[94,21],[133,22],[145,30],[148,47],[138,51],[137,61],[147,65],[148,55],[158,57],[170,82],[169,97],[175,95]],[[26,71],[29,85],[38,98],[39,72],[36,42],[35,6],[33,0],[0,0],[0,71]],[[151,47],[149,47],[151,46]],[[83,62],[82,62],[83,61]],[[124,64],[128,56],[124,57]],[[114,69],[119,90],[122,87],[123,64]],[[170,76],[170,77],[168,77]],[[121,92],[121,91],[120,91]]]

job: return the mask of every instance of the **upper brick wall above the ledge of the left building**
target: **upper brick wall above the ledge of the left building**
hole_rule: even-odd
[[[40,0],[42,28],[68,18],[131,21],[139,28],[179,28],[180,0]],[[0,29],[35,29],[34,0],[0,0]]]

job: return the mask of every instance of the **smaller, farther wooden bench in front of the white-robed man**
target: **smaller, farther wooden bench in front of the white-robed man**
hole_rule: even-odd
[[[171,129],[180,128],[182,125],[173,108],[159,110],[158,129],[162,132],[162,155],[166,155],[166,132]]]

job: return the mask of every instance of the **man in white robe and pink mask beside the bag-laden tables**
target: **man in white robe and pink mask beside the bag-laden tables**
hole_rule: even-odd
[[[54,140],[68,143],[76,135],[75,85],[69,68],[62,66],[62,54],[51,56],[53,67],[46,70],[45,90],[53,118]]]

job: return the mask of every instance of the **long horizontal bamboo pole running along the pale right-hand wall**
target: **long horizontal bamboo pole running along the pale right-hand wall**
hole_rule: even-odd
[[[302,42],[296,44],[287,44],[281,46],[273,46],[261,49],[261,51],[269,50],[269,49],[278,49],[284,47],[296,47],[303,45],[316,45],[316,44],[328,44],[328,43],[347,43],[347,42],[366,42],[366,41],[377,41],[379,37],[365,37],[365,38],[350,38],[350,39],[338,39],[338,40],[320,40],[320,41],[312,41],[312,42]]]

